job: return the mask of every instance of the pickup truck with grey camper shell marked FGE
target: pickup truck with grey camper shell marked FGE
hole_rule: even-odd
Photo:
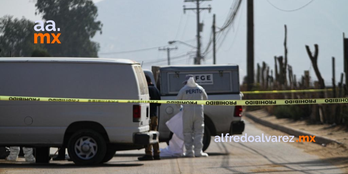
[[[176,65],[152,66],[152,71],[144,69],[160,91],[161,100],[175,100],[179,90],[183,87],[187,74],[195,77],[196,83],[202,86],[208,94],[208,100],[241,100],[239,90],[238,65]],[[179,109],[175,104],[162,104],[158,110],[159,141],[168,142],[172,133],[166,126]],[[209,144],[211,137],[229,133],[242,134],[244,121],[242,120],[242,106],[204,106],[204,137],[203,151]]]

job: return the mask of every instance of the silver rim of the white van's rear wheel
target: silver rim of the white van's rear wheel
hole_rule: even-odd
[[[75,143],[75,153],[80,159],[88,160],[97,154],[98,145],[89,136],[82,136]]]

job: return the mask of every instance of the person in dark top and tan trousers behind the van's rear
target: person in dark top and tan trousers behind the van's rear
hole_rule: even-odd
[[[161,96],[159,94],[159,90],[152,84],[151,78],[149,76],[145,76],[146,81],[148,82],[149,88],[149,96],[150,100],[161,100]],[[158,118],[157,118],[157,106],[160,106],[160,103],[150,103],[150,130],[157,130]],[[153,147],[153,157],[152,157],[152,147]],[[139,157],[140,161],[144,160],[160,160],[159,157],[159,143],[149,144],[145,147],[145,155]]]

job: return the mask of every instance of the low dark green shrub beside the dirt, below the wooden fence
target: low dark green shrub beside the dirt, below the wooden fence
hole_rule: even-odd
[[[277,118],[291,118],[299,120],[303,117],[303,109],[299,105],[279,105],[274,109]]]

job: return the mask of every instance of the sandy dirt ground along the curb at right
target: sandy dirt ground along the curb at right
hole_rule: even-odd
[[[268,113],[263,110],[252,111],[250,113],[252,113],[254,116],[260,117],[264,120],[276,124],[288,126],[294,129],[299,129],[315,135],[328,137],[330,139],[334,139],[344,143],[343,145],[337,143],[319,145],[310,142],[299,142],[291,144],[295,147],[303,149],[306,153],[319,156],[321,159],[327,161],[328,163],[342,167],[343,170],[348,173],[348,130],[346,128],[342,126],[333,127],[331,125],[308,125],[306,121],[277,119],[275,116],[269,116]],[[254,121],[251,119],[248,119],[246,117],[244,117],[244,119],[247,119],[248,121],[254,123]],[[279,130],[275,130],[260,124],[255,123],[255,127],[261,129],[262,131],[270,135],[286,135],[286,133],[284,132],[280,132]]]

